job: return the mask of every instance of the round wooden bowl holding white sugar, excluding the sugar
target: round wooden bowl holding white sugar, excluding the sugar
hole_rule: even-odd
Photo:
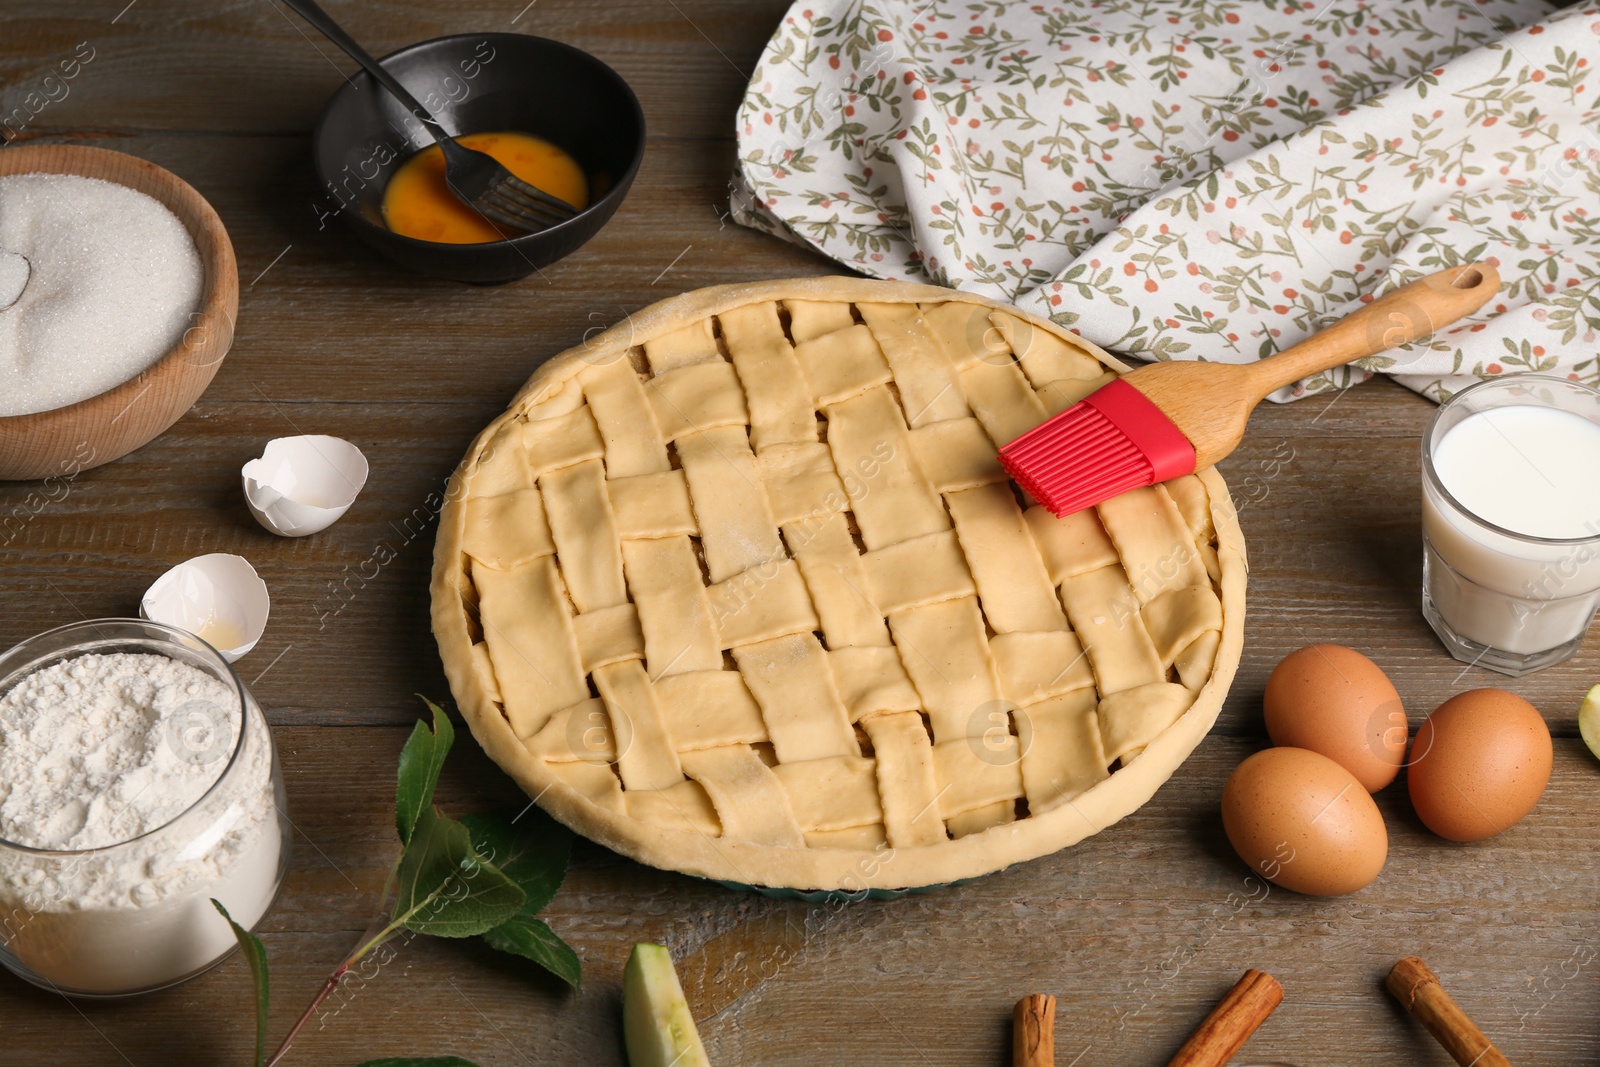
[[[178,174],[123,152],[72,144],[0,152],[0,176],[38,173],[99,178],[155,197],[194,238],[205,286],[184,336],[136,378],[66,408],[0,416],[0,480],[74,475],[150,442],[211,384],[234,344],[238,315],[234,243],[205,197]]]

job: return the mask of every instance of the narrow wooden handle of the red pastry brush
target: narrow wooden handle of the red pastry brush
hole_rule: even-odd
[[[1384,293],[1322,333],[1248,365],[1251,387],[1259,400],[1310,374],[1426,338],[1478,310],[1498,291],[1499,274],[1486,262],[1469,262],[1418,278]]]

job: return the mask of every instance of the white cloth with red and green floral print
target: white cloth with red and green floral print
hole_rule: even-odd
[[[1374,371],[1600,384],[1600,11],[1538,0],[802,0],[739,110],[739,221],[1142,358],[1250,362],[1475,259]]]

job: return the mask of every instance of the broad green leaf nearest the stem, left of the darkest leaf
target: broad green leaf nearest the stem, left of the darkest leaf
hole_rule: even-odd
[[[435,937],[472,937],[522,910],[515,881],[472,848],[467,827],[422,808],[395,872],[394,925]]]

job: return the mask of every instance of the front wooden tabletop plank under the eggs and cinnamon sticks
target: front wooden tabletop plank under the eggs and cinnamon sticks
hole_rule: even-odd
[[[395,849],[387,769],[405,731],[280,725],[277,737],[298,827],[288,888],[262,929],[280,1035],[370,918]],[[579,993],[474,942],[416,939],[314,1024],[290,1062],[453,1053],[485,1067],[622,1064],[616,1005],[634,941],[674,950],[717,1064],[858,1062],[864,1049],[936,1067],[998,1062],[1010,1006],[1032,989],[1061,998],[1059,1062],[1085,1049],[1080,1062],[1163,1062],[1259,966],[1286,1000],[1246,1049],[1253,1061],[1443,1067],[1381,989],[1411,952],[1514,1062],[1592,1061],[1597,878],[1592,865],[1550,862],[1594,835],[1595,771],[1579,742],[1558,742],[1536,813],[1485,845],[1434,838],[1403,785],[1387,790],[1389,865],[1333,901],[1246,881],[1227,848],[1216,798],[1256,747],[1211,737],[1099,837],[896,902],[770,901],[582,845],[546,913],[584,958]],[[352,781],[352,768],[371,773]],[[459,814],[518,800],[464,739],[440,805]],[[32,1064],[245,1062],[246,987],[234,958],[178,990],[82,1005],[90,1027],[78,1008],[8,979],[0,1033]]]

